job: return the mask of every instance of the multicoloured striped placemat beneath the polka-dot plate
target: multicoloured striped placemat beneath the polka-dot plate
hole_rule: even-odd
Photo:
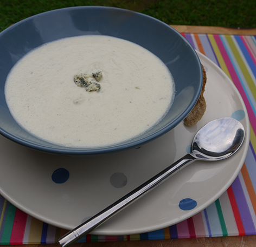
[[[251,123],[249,151],[241,172],[205,210],[162,230],[127,236],[87,235],[79,242],[196,238],[256,234],[256,36],[182,34],[231,78],[245,102]],[[0,243],[56,243],[66,230],[45,224],[0,196]]]

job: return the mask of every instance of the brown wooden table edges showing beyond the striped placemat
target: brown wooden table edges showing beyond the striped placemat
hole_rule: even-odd
[[[233,35],[256,35],[256,29],[233,29],[222,27],[202,27],[188,25],[171,25],[179,32],[202,33],[202,34],[233,34]],[[5,245],[2,245],[5,246]],[[6,245],[6,247],[18,247],[18,245]],[[57,247],[58,244],[29,244],[22,247]],[[102,242],[102,243],[76,243],[73,247],[255,247],[256,235],[212,237],[212,238],[189,238],[189,239],[164,239],[164,240],[136,240],[128,242]]]

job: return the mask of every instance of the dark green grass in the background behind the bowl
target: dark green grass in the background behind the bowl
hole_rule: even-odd
[[[130,9],[173,25],[256,28],[256,0],[0,0],[0,31],[41,12],[82,5]]]

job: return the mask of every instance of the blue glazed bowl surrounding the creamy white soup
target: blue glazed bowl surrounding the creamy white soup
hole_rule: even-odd
[[[50,144],[24,131],[12,118],[4,85],[10,69],[30,50],[60,38],[109,35],[150,50],[169,68],[176,95],[170,111],[155,127],[139,137],[114,146],[70,148]],[[61,155],[90,155],[136,148],[160,137],[188,115],[202,88],[199,57],[185,38],[169,25],[137,12],[101,6],[79,6],[44,12],[24,19],[0,33],[0,133],[21,145]]]

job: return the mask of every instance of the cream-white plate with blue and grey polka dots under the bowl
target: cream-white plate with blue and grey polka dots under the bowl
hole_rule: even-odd
[[[43,222],[73,229],[181,158],[189,150],[194,134],[207,122],[225,116],[242,118],[245,142],[231,158],[215,163],[195,162],[93,233],[130,235],[162,229],[212,204],[232,184],[244,164],[249,144],[249,120],[232,81],[206,56],[199,53],[199,57],[208,80],[204,93],[207,110],[197,125],[185,127],[181,123],[163,137],[136,150],[83,158],[44,154],[0,137],[2,196]],[[52,179],[58,168],[69,172],[65,183],[57,184]],[[185,198],[196,201],[194,209],[179,207]]]

